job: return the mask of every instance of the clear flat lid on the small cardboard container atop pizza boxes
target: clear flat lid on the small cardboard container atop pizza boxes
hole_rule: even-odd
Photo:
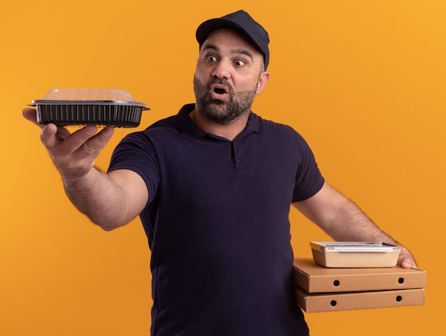
[[[401,251],[401,246],[378,241],[311,241],[311,248],[318,251],[336,252],[393,252]]]

